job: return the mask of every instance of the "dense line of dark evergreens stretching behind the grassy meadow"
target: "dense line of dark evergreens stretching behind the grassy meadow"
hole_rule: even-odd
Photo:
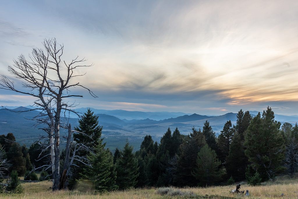
[[[178,128],[173,132],[168,128],[159,144],[146,135],[135,153],[126,141],[114,155],[105,149],[98,116],[90,109],[79,124],[76,131],[83,133],[75,133],[74,140],[90,147],[89,152],[80,151],[79,155],[88,158],[91,167],[78,163],[72,169],[70,189],[82,180],[91,181],[100,192],[144,186],[209,186],[242,180],[255,185],[298,170],[298,126],[287,122],[281,126],[269,107],[253,118],[249,111],[241,109],[236,125],[227,121],[218,138],[205,121],[202,130],[193,127],[189,135],[180,134]],[[27,149],[13,141],[10,133],[0,136],[0,144],[12,163],[10,171],[24,175],[32,166],[45,164],[37,161],[42,152],[40,143]]]

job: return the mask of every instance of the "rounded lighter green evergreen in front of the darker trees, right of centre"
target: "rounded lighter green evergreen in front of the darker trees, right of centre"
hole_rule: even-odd
[[[215,151],[206,144],[198,152],[193,175],[198,179],[200,186],[213,185],[225,174],[220,166],[221,161],[216,158]]]

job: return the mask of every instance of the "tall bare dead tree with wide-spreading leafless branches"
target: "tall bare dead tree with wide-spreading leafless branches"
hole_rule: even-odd
[[[70,97],[83,97],[82,95],[70,94],[70,90],[75,87],[86,89],[91,96],[97,97],[90,89],[84,87],[79,82],[73,83],[73,78],[85,74],[75,73],[80,67],[90,67],[84,64],[86,59],[79,59],[77,56],[70,63],[62,60],[63,45],[57,43],[55,38],[45,39],[44,49],[33,48],[32,54],[26,59],[20,55],[14,60],[13,66],[8,67],[10,74],[15,78],[22,79],[21,90],[15,87],[14,82],[5,75],[0,75],[0,88],[14,92],[30,95],[36,98],[33,109],[38,110],[35,118],[37,124],[44,124],[42,129],[47,133],[49,139],[51,164],[52,167],[53,190],[58,190],[60,183],[60,127],[61,115],[65,111],[74,111],[74,103],[66,101]],[[67,127],[67,124],[65,125]],[[68,144],[70,147],[71,144]],[[70,149],[66,149],[70,150]]]

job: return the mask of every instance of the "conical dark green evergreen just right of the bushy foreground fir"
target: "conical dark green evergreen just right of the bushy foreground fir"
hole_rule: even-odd
[[[136,179],[139,175],[138,160],[132,151],[133,147],[126,141],[121,156],[116,162],[116,185],[122,190],[134,187],[137,183]]]

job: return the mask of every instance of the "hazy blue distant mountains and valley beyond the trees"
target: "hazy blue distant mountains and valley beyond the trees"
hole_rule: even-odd
[[[12,132],[17,140],[36,138],[37,135],[44,135],[44,132],[35,127],[35,122],[30,120],[38,114],[38,111],[28,111],[16,113],[13,111],[29,110],[30,107],[7,107],[11,110],[0,109],[0,134]],[[76,109],[79,112],[85,112],[87,108]],[[91,108],[92,109],[92,108]],[[142,139],[150,134],[159,140],[159,138],[170,127],[172,130],[178,127],[182,134],[188,134],[192,127],[202,128],[203,123],[208,120],[212,129],[218,135],[226,121],[231,120],[236,123],[237,113],[226,113],[219,116],[208,116],[185,114],[183,112],[141,112],[126,110],[102,110],[92,109],[99,116],[99,124],[103,126],[103,136],[117,140],[119,136],[130,136],[132,139]],[[257,115],[257,111],[250,111],[252,116]],[[67,114],[66,114],[67,115]],[[70,114],[70,116],[73,116]],[[65,118],[69,120],[72,127],[78,126],[78,118]],[[275,119],[280,122],[298,122],[298,116],[275,115]],[[117,137],[118,136],[118,137]],[[28,141],[28,143],[30,140]],[[117,143],[115,144],[115,147]]]

